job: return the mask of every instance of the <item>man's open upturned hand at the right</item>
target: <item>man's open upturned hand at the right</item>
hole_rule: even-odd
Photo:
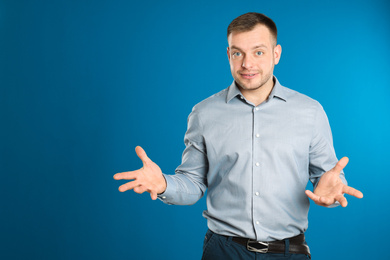
[[[349,159],[347,157],[341,158],[333,169],[322,175],[314,193],[306,190],[306,195],[317,205],[324,207],[330,206],[336,201],[342,207],[346,207],[348,202],[344,194],[349,194],[359,199],[363,198],[362,192],[345,185],[341,181],[340,172],[348,164],[348,161]]]

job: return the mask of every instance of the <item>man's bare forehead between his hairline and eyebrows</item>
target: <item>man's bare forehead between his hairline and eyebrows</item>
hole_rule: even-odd
[[[229,47],[236,46],[242,49],[250,49],[253,46],[265,45],[271,47],[272,35],[270,30],[262,25],[256,25],[247,32],[232,32],[228,37]]]

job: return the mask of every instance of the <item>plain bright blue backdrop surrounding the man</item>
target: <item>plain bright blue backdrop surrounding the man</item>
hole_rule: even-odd
[[[200,259],[204,198],[167,206],[112,176],[142,166],[136,145],[173,173],[191,108],[232,82],[228,24],[257,11],[279,29],[275,75],[321,102],[365,195],[312,205],[314,259],[389,259],[389,7],[0,1],[0,258]]]

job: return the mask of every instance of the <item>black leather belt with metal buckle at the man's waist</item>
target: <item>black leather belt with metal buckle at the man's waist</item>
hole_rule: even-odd
[[[286,239],[285,239],[286,240]],[[232,241],[243,246],[249,251],[258,252],[258,253],[285,253],[285,240],[270,241],[270,242],[259,242],[256,240],[242,238],[242,237],[233,237]],[[289,253],[290,254],[304,254],[310,257],[310,249],[306,244],[305,235],[300,234],[295,237],[288,238],[289,240]]]

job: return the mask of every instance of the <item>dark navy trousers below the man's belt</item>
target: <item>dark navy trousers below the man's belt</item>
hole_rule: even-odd
[[[287,243],[288,245],[288,243]],[[256,253],[245,246],[232,241],[232,237],[218,235],[208,230],[203,243],[202,260],[307,260],[303,254],[289,254],[286,247],[284,254]]]

